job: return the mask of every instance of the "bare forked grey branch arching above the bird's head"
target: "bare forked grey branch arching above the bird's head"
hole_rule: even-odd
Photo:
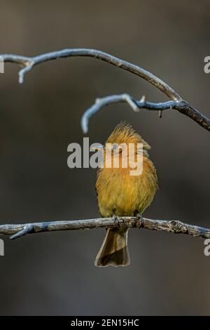
[[[172,106],[168,106],[169,103],[147,103],[144,101],[139,101],[141,104],[137,105],[138,102],[135,101],[130,95],[122,94],[122,95],[112,95],[107,98],[101,99],[101,103],[99,103],[100,107],[90,107],[87,112],[85,112],[83,117],[83,131],[87,133],[88,128],[88,119],[97,112],[102,106],[108,105],[111,103],[118,103],[118,102],[127,102],[133,110],[137,110],[136,105],[138,108],[145,108],[148,110],[165,110],[165,109],[174,109],[178,110],[182,114],[190,117],[197,124],[200,124],[203,128],[210,131],[210,119],[204,116],[201,112],[196,110],[192,105],[187,103],[181,96],[176,93],[169,85],[167,85],[164,81],[155,77],[154,74],[148,72],[141,67],[134,65],[130,62],[125,60],[121,60],[120,58],[116,58],[113,55],[108,53],[104,53],[102,51],[97,51],[96,49],[89,49],[89,48],[69,48],[64,49],[62,51],[53,51],[51,53],[45,53],[34,57],[25,57],[20,55],[13,55],[13,54],[3,54],[1,58],[3,58],[4,62],[15,62],[23,66],[23,69],[19,72],[19,82],[20,84],[23,82],[25,74],[29,72],[34,65],[38,65],[42,62],[48,60],[55,60],[57,58],[68,58],[72,56],[88,56],[92,58],[97,58],[99,60],[103,60],[108,62],[111,65],[115,65],[116,67],[120,67],[123,70],[127,70],[133,74],[137,74],[137,76],[146,79],[149,83],[153,84],[153,86],[157,87],[162,93],[165,93],[170,100],[176,101],[176,103],[172,103]],[[118,100],[117,100],[118,98]],[[126,100],[127,98],[127,100]],[[104,101],[104,99],[106,99]],[[102,102],[103,101],[103,102]],[[170,101],[169,101],[170,102]],[[163,108],[162,108],[163,107]],[[161,111],[162,112],[162,111]]]

